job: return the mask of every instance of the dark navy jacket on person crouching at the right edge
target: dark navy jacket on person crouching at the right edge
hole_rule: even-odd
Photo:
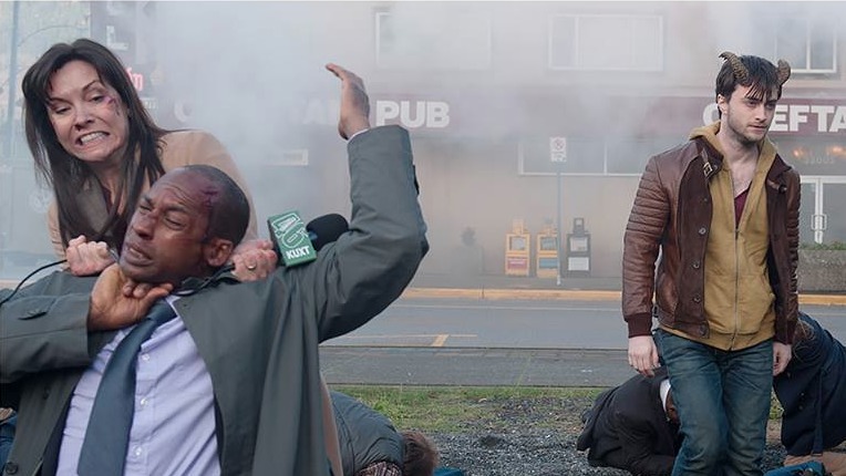
[[[809,339],[794,342],[787,369],[773,380],[782,403],[787,454],[822,453],[846,441],[846,348],[804,312]]]

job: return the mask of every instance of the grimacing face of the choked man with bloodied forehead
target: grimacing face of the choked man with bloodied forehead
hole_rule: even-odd
[[[124,275],[142,282],[172,282],[206,275],[206,239],[212,198],[217,194],[200,174],[177,169],[142,196],[121,253]]]

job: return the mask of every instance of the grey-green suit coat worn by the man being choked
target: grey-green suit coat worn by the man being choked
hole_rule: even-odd
[[[224,475],[329,474],[318,343],[388,307],[429,249],[407,133],[376,127],[348,151],[350,230],[316,261],[256,282],[224,276],[176,301],[212,377]],[[93,281],[58,272],[0,308],[0,405],[20,415],[4,475],[54,467],[55,455],[45,457],[51,435],[59,437],[76,382],[113,335],[85,330]]]

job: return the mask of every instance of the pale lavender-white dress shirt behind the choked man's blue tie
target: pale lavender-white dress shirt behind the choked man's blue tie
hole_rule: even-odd
[[[168,302],[175,299],[168,298]],[[131,330],[115,334],[76,385],[59,452],[58,474],[76,474],[103,370]],[[156,329],[138,352],[135,414],[124,475],[219,475],[213,395],[206,364],[177,313]]]

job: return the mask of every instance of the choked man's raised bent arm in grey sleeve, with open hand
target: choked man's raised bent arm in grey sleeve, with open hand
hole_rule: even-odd
[[[358,328],[393,302],[429,249],[407,132],[371,128],[361,79],[336,64],[327,69],[341,80],[338,131],[350,137],[352,214],[350,230],[310,267],[320,282],[318,302],[326,304],[321,340]]]

